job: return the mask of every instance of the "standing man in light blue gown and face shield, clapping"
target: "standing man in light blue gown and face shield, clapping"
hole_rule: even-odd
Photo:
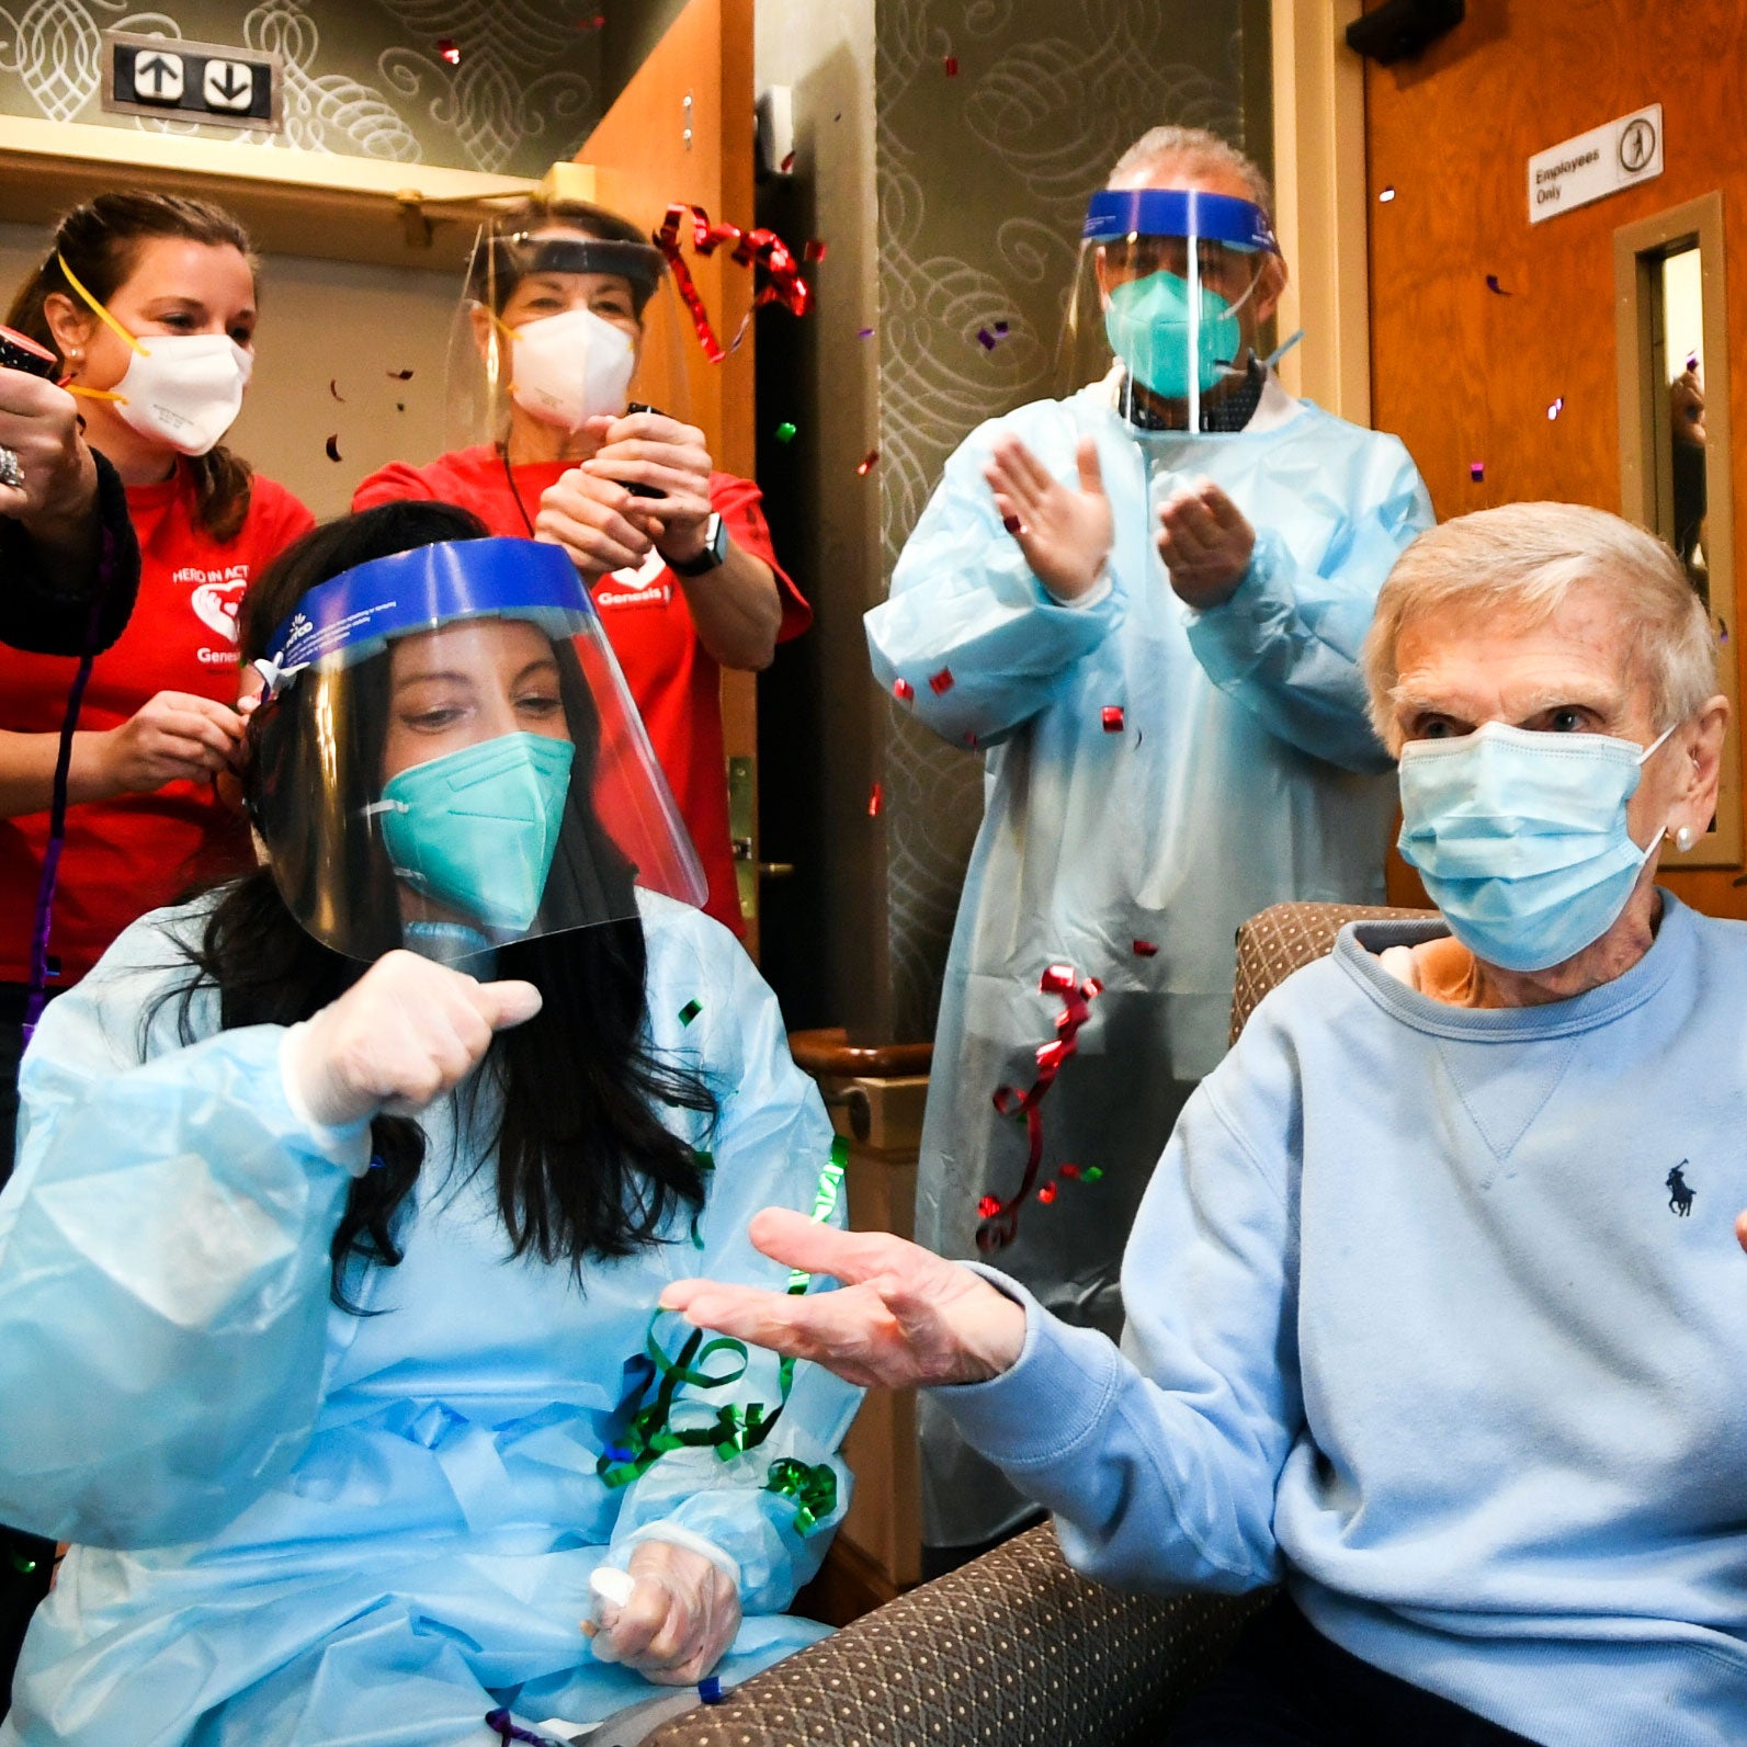
[[[1197,129],[1118,162],[1069,307],[1092,386],[964,440],[867,618],[900,708],[987,762],[917,1240],[999,1253],[1113,1336],[1141,1191],[1226,1046],[1239,926],[1282,900],[1384,898],[1394,783],[1357,655],[1433,510],[1394,437],[1295,400],[1256,358],[1286,285],[1265,203],[1260,171]],[[1045,989],[1052,966],[1102,985],[1078,1032],[1083,994]],[[1064,1036],[1076,1053],[1027,1115],[1038,1050]],[[929,1548],[1025,1518],[926,1396],[921,1424]]]

